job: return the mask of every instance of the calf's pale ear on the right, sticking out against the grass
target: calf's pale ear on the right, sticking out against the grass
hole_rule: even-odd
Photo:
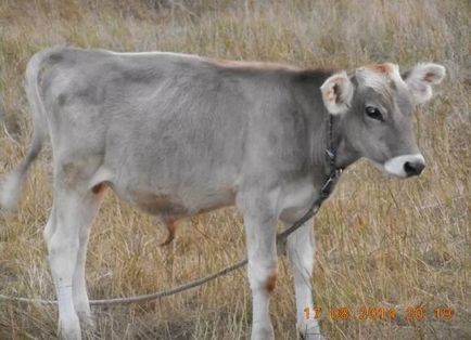
[[[417,64],[403,78],[416,103],[422,104],[432,97],[432,84],[441,83],[445,74],[445,67],[442,65],[427,63]]]

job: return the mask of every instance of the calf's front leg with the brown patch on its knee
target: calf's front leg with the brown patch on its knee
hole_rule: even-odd
[[[252,340],[275,339],[269,315],[270,295],[277,280],[277,218],[264,199],[242,207],[252,290]]]

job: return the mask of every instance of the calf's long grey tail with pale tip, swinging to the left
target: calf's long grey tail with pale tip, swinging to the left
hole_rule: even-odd
[[[33,138],[25,158],[20,166],[8,174],[0,183],[0,210],[16,211],[20,195],[29,167],[38,157],[47,136],[46,109],[39,93],[39,74],[42,61],[49,55],[50,50],[36,53],[26,67],[26,96],[33,116]]]

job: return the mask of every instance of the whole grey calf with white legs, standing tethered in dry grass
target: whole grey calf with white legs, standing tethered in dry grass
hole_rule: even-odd
[[[236,205],[246,230],[252,339],[273,339],[277,221],[302,217],[332,167],[366,157],[402,178],[424,168],[412,109],[430,100],[445,68],[419,64],[405,75],[390,63],[334,71],[166,52],[53,48],[34,55],[26,70],[33,142],[3,181],[0,204],[16,209],[49,135],[54,201],[44,238],[62,336],[80,339],[80,323],[91,323],[87,241],[111,187],[170,232],[178,219]],[[303,315],[313,308],[313,221],[289,237],[288,254],[298,329],[320,338],[317,322]]]

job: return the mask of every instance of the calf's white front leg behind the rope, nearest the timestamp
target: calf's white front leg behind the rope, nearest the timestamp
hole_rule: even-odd
[[[322,339],[318,321],[314,317],[313,311],[311,283],[316,256],[313,219],[289,236],[287,246],[294,276],[297,329],[304,339]]]

